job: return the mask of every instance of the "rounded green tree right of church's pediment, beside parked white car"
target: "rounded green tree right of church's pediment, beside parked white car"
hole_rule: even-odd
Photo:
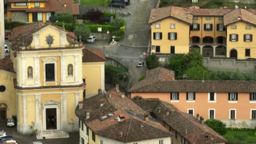
[[[77,37],[81,35],[82,40],[86,40],[90,36],[91,30],[87,25],[78,24],[75,25],[74,33]]]

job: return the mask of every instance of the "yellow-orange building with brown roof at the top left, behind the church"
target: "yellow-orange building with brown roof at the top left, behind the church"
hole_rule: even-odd
[[[79,4],[59,0],[9,0],[7,17],[11,21],[51,21],[55,13],[79,15]]]

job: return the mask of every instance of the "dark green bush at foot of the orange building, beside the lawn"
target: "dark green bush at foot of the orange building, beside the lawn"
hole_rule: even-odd
[[[216,131],[220,135],[226,134],[226,124],[222,121],[219,121],[217,119],[207,119],[207,121],[204,122],[208,127],[212,128],[214,131]]]

